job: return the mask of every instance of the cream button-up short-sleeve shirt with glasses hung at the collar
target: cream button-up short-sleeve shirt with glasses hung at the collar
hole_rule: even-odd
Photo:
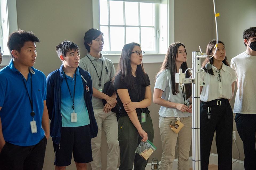
[[[206,86],[202,86],[200,100],[209,102],[215,99],[231,99],[233,97],[232,84],[237,79],[233,68],[222,64],[221,81],[218,81],[217,68],[212,65],[214,75],[203,72],[200,79],[205,81]]]

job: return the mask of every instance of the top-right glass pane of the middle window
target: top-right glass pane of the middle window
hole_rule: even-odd
[[[140,3],[141,25],[153,26],[153,3]]]

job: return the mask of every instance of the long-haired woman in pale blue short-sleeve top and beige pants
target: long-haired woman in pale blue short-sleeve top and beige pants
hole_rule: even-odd
[[[178,169],[189,170],[189,150],[191,145],[191,84],[180,86],[175,83],[175,73],[182,68],[187,69],[187,52],[185,45],[179,42],[172,43],[167,51],[160,71],[157,73],[153,102],[159,104],[159,129],[162,140],[161,170],[171,170],[177,143]],[[189,71],[186,78],[189,78]],[[176,119],[184,127],[175,133],[169,125]]]

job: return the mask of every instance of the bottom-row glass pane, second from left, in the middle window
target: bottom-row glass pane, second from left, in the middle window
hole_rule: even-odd
[[[110,27],[111,51],[122,51],[124,46],[123,27]]]

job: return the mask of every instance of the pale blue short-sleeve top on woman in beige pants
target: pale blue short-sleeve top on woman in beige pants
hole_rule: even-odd
[[[172,93],[172,84],[171,84],[171,73],[169,69],[163,70],[161,73],[157,75],[155,81],[155,89],[160,89],[163,91],[162,99],[174,102],[174,103],[184,103],[184,98],[182,95],[182,89],[179,86],[179,93],[174,95]],[[184,94],[186,96],[186,93]],[[189,99],[186,99],[186,103],[189,104]],[[159,110],[159,115],[162,117],[188,117],[191,116],[189,112],[182,112],[176,108],[169,108],[165,106],[161,106]]]

